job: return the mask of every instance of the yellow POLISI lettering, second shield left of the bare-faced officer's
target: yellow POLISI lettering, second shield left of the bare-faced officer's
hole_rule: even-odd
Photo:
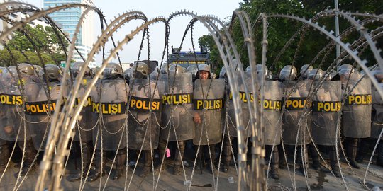
[[[152,112],[160,112],[161,100],[150,100],[149,98],[139,98],[132,96],[131,103],[129,104],[129,109],[140,112],[148,112],[150,110],[152,110]]]

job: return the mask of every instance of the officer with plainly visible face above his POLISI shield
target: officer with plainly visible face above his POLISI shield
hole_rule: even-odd
[[[194,81],[194,139],[193,144],[202,146],[208,156],[207,169],[215,169],[215,144],[221,141],[221,115],[223,109],[225,82],[211,79],[211,69],[207,64],[199,64],[197,79]]]

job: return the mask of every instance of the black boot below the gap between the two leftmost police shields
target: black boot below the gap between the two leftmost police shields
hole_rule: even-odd
[[[24,151],[24,163],[23,163],[23,167],[21,168],[21,173],[20,173],[20,175],[22,175],[22,176],[26,175],[29,168],[30,168],[30,170],[29,170],[30,172],[35,170],[35,166],[32,163],[33,163],[33,159],[36,156],[36,151],[35,151],[35,147],[33,146],[32,140],[26,141],[26,148],[25,149],[23,149],[23,146],[24,146],[24,142],[18,141],[18,147],[20,147],[21,150],[25,150]]]

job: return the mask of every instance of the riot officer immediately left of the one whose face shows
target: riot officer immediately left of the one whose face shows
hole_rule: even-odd
[[[174,175],[181,173],[185,144],[194,138],[192,125],[193,84],[191,74],[184,73],[182,66],[170,66],[169,74],[160,76],[160,94],[162,95],[162,128],[160,132],[160,159],[164,158],[162,168],[166,168],[165,147],[167,141],[177,141],[174,158]]]

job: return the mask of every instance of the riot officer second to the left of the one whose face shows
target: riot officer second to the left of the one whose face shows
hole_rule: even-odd
[[[145,177],[152,169],[154,149],[160,138],[161,100],[158,86],[150,81],[149,67],[145,62],[133,65],[133,78],[130,80],[128,115],[128,148],[145,155],[144,167],[140,176]]]

